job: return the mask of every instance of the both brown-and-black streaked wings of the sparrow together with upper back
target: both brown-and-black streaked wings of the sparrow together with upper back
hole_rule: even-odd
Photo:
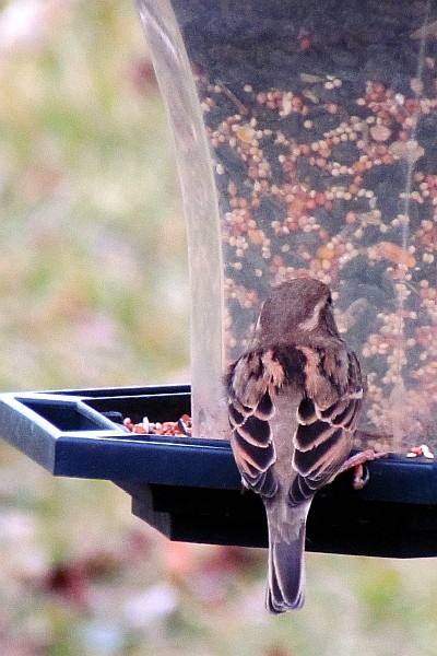
[[[253,350],[241,355],[226,377],[234,457],[245,484],[265,497],[277,490],[270,425],[274,399],[287,394],[288,384],[299,388],[304,382],[296,432],[284,435],[294,443],[292,505],[310,499],[328,483],[351,450],[363,399],[355,354],[343,345],[336,353],[293,345]]]

